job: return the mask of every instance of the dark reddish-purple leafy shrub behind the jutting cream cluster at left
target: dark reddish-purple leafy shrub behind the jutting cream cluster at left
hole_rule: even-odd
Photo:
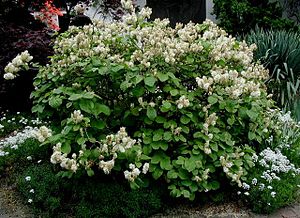
[[[28,13],[29,16],[31,16]],[[21,15],[18,15],[18,17]],[[22,16],[21,16],[22,17]],[[34,57],[34,61],[40,64],[48,62],[48,56],[53,54],[51,36],[33,17],[22,17],[22,22],[0,19],[0,98],[1,110],[30,111],[32,103],[30,93],[33,91],[33,78],[37,71],[30,69],[21,72],[20,77],[14,81],[6,81],[3,78],[4,67],[18,53],[28,50]],[[14,99],[14,100],[12,100]]]

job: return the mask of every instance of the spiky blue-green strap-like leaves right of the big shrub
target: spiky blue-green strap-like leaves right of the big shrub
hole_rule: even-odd
[[[284,30],[255,29],[245,37],[255,43],[255,60],[261,61],[270,71],[267,85],[278,105],[294,112],[300,119],[300,34]]]

